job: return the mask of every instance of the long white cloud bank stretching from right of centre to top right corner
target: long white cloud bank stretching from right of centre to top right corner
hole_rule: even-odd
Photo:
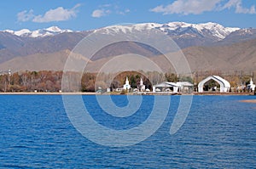
[[[256,14],[255,7],[243,8],[241,0],[229,0],[222,5],[224,0],[176,0],[173,3],[157,6],[150,9],[151,12],[163,14],[202,14],[207,11],[236,8],[237,14]]]

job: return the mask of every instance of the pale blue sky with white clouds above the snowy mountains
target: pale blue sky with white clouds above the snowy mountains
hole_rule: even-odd
[[[217,22],[256,27],[256,0],[3,0],[0,30],[57,25],[84,31],[124,23]]]

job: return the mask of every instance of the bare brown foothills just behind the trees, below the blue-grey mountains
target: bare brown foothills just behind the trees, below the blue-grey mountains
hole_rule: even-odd
[[[224,46],[183,48],[182,52],[188,60],[192,72],[211,70],[220,70],[222,72],[235,70],[254,71],[256,67],[256,39]],[[61,50],[50,54],[32,54],[23,58],[11,59],[0,64],[0,67],[4,70],[9,70],[12,67],[13,71],[63,70],[65,61],[71,53],[70,50]],[[113,56],[88,60],[86,70],[96,72],[110,59],[113,59]],[[170,67],[167,67],[169,64],[166,65],[168,61],[164,55],[148,57],[148,59],[160,65],[163,70],[170,70]]]

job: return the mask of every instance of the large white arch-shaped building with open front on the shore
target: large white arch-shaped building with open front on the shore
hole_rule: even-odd
[[[198,84],[198,92],[199,93],[203,93],[204,92],[204,85],[205,83],[209,82],[209,81],[215,81],[218,82],[219,84],[219,92],[220,93],[227,93],[230,91],[230,82],[226,81],[224,78],[220,77],[220,76],[208,76],[206,79],[202,80],[201,82],[199,82]]]

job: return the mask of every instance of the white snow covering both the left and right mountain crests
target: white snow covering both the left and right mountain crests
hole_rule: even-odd
[[[151,29],[158,29],[165,32],[167,35],[172,37],[196,37],[196,35],[211,38],[216,41],[223,40],[229,36],[233,31],[238,31],[240,28],[224,27],[217,23],[204,23],[204,24],[189,24],[185,22],[170,22],[166,24],[158,23],[143,23],[134,25],[112,25],[107,28],[97,29],[95,31],[102,31],[105,33],[117,33],[117,32],[132,32],[132,31],[145,31]],[[73,32],[71,30],[61,30],[57,26],[52,26],[46,29],[40,29],[36,31],[30,31],[23,29],[20,31],[5,30],[19,37],[48,37],[54,36],[63,32]]]

